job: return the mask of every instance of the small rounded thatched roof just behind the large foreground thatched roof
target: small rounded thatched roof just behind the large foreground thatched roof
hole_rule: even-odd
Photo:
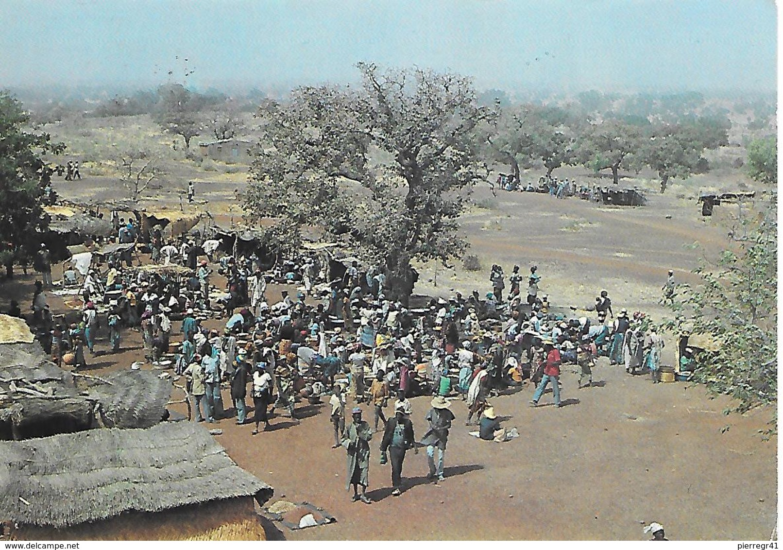
[[[154,371],[119,371],[97,383],[90,396],[101,404],[101,420],[110,428],[149,428],[161,422],[171,397],[171,380]]]

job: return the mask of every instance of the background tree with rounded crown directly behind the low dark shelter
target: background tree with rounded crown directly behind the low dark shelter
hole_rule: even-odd
[[[588,125],[579,136],[576,155],[595,172],[611,169],[616,184],[620,168],[633,166],[633,155],[642,147],[643,130],[644,126],[615,119]]]

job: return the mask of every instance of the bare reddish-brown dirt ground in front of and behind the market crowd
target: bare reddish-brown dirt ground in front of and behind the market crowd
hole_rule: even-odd
[[[226,190],[234,186],[226,184]],[[88,194],[87,182],[78,193],[73,188],[57,190],[73,197]],[[482,271],[467,273],[461,262],[437,272],[422,266],[416,291],[449,295],[452,289],[478,288],[483,293],[493,263],[501,263],[507,274],[514,263],[525,273],[536,263],[542,291],[554,306],[583,308],[606,288],[615,312],[627,307],[660,317],[664,311],[657,302],[666,270],[674,269],[680,282],[695,282],[690,270],[700,256],[709,258],[725,246],[726,219],[736,207],[721,205],[716,213],[723,209],[724,219],[704,221],[695,201],[678,198],[676,191],[648,197],[646,208],[604,208],[539,194],[493,197],[489,187],[478,189],[474,198],[485,208],[468,212],[463,225],[469,253],[479,256]],[[0,309],[20,297],[23,309],[29,306],[33,280],[31,274],[0,284]],[[279,290],[270,289],[272,299]],[[51,302],[54,309],[63,307]],[[207,326],[220,324],[213,320]],[[99,350],[109,347],[103,336]],[[123,338],[122,353],[88,357],[88,372],[128,368],[143,357],[139,333],[125,331]],[[664,363],[672,360],[673,338],[666,338],[666,346]],[[251,436],[252,425],[238,426],[233,418],[210,427],[223,430],[216,440],[238,465],[275,487],[272,502],[309,501],[337,518],[298,531],[267,521],[269,539],[637,541],[648,538],[642,527],[651,521],[662,523],[672,540],[770,537],[777,521],[778,440],[764,442],[756,431],[767,428],[771,409],[726,416],[728,398],[710,399],[703,387],[682,382],[652,385],[647,377],[610,367],[606,359],[594,369],[593,387],[577,389],[577,378],[576,367],[565,367],[561,409],[551,405],[549,391],[538,408],[529,408],[530,386],[494,398],[503,426],[520,433],[507,443],[470,436],[474,428],[464,426],[466,407],[454,400],[446,479],[428,483],[424,450],[409,452],[403,469],[407,488],[400,497],[391,496],[390,466],[378,463],[378,433],[372,443],[372,505],[352,502],[345,490],[345,450],[330,448],[325,403],[298,403],[301,424],[276,416],[272,430],[258,436]],[[223,395],[228,406],[228,391]],[[412,402],[420,436],[429,400]]]

